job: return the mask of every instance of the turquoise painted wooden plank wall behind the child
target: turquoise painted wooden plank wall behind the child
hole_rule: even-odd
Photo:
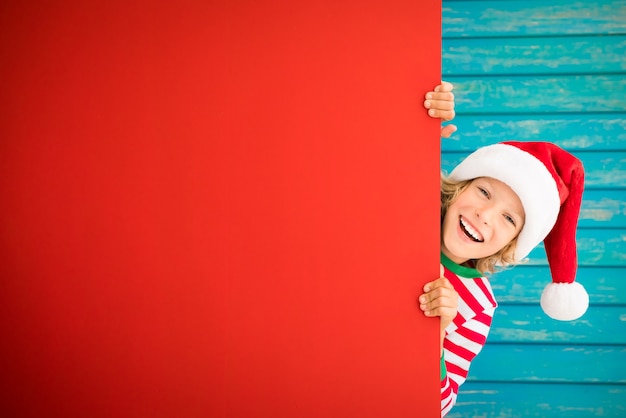
[[[507,139],[553,141],[586,168],[577,280],[589,311],[539,307],[543,247],[493,276],[500,307],[449,417],[626,417],[626,1],[443,1],[449,171]],[[520,173],[523,174],[523,173]]]

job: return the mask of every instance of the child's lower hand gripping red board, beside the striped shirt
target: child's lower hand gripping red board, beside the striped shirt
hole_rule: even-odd
[[[424,293],[419,297],[419,305],[424,315],[441,317],[443,330],[456,317],[459,295],[452,283],[443,277],[443,266],[440,266],[440,276],[437,280],[424,285]]]

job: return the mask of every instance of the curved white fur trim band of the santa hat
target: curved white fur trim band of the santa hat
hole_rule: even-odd
[[[554,178],[532,154],[502,143],[479,148],[449,176],[455,181],[478,177],[499,180],[520,198],[526,217],[515,248],[515,259],[522,260],[548,235],[559,215],[561,201]]]

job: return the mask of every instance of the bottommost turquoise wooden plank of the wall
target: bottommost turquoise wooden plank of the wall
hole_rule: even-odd
[[[506,367],[505,363],[502,367]],[[626,416],[626,386],[475,383],[461,386],[447,418],[587,418]]]

